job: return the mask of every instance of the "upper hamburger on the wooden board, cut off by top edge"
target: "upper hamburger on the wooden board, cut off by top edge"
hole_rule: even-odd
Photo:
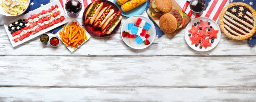
[[[149,10],[152,16],[161,17],[164,13],[172,10],[171,0],[151,0]]]

